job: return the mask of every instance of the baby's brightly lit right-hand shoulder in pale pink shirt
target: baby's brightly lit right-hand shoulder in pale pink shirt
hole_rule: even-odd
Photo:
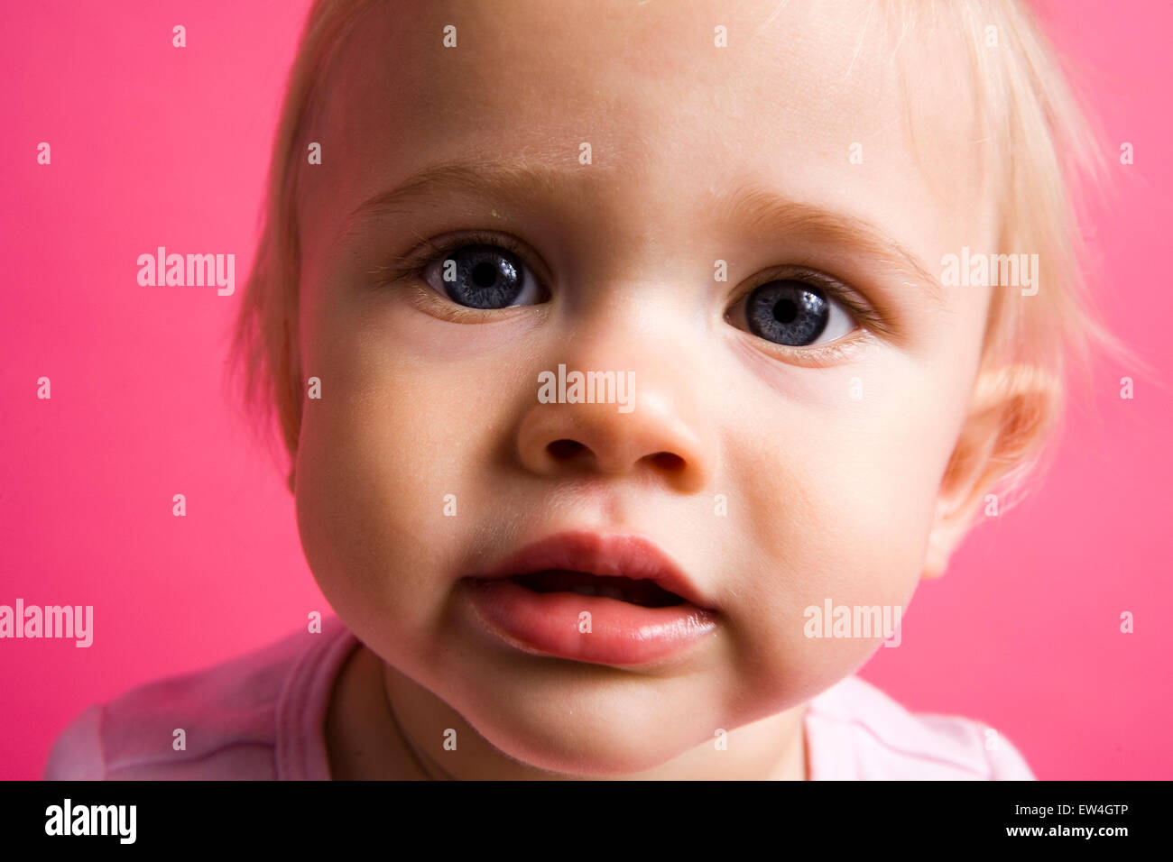
[[[806,728],[813,779],[1035,779],[1018,749],[989,725],[911,713],[855,676],[811,701]]]

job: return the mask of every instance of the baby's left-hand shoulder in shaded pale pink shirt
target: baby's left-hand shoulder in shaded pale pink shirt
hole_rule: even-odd
[[[57,737],[45,779],[326,778],[313,774],[324,771],[321,721],[354,643],[330,617],[320,634],[294,632],[95,704]]]

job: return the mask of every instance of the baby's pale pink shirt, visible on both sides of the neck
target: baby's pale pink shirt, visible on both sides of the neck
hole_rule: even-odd
[[[205,671],[134,688],[81,713],[57,738],[45,778],[330,779],[323,725],[333,681],[359,642],[337,617]],[[913,714],[859,677],[811,700],[812,780],[1033,780],[985,725]],[[176,728],[187,749],[174,751]]]

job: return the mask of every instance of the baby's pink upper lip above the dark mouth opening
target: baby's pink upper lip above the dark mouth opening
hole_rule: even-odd
[[[550,569],[652,581],[693,605],[707,602],[685,571],[659,545],[635,534],[560,532],[526,545],[474,578],[506,578]]]

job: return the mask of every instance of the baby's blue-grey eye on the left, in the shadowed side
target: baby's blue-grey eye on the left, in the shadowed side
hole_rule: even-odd
[[[497,245],[462,245],[429,263],[423,279],[469,308],[508,308],[541,301],[540,284],[511,251]]]

